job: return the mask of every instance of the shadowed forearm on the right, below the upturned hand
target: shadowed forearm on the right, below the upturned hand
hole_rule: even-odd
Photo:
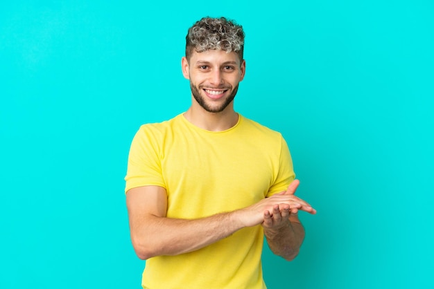
[[[300,221],[291,221],[278,230],[264,228],[268,246],[274,254],[284,259],[293,260],[304,240],[304,227]]]

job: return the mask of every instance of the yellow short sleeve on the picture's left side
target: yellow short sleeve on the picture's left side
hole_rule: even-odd
[[[161,167],[161,132],[143,125],[134,136],[125,176],[125,193],[134,187],[157,185],[166,187]]]

